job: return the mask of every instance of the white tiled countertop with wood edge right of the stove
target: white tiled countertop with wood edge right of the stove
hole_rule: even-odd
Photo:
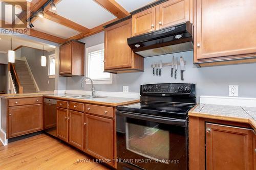
[[[188,112],[189,116],[247,123],[256,130],[256,107],[227,106],[200,103]]]

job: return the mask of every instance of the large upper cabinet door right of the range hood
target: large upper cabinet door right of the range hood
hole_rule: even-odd
[[[194,27],[197,59],[256,53],[255,6],[255,0],[197,0]]]

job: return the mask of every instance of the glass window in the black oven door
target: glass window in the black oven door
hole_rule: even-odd
[[[146,125],[126,122],[126,149],[154,160],[169,160],[169,131],[160,129],[160,124]]]

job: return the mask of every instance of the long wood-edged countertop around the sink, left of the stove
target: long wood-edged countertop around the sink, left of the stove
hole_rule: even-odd
[[[27,94],[4,94],[0,95],[0,98],[4,99],[18,99],[18,98],[32,98],[32,97],[46,97],[51,99],[59,99],[59,100],[69,100],[75,102],[82,102],[88,104],[99,104],[99,105],[107,105],[107,106],[121,106],[132,103],[140,102],[139,99],[132,98],[117,98],[117,97],[105,97],[105,98],[93,98],[93,99],[75,99],[68,98],[65,95],[79,95],[79,94],[51,94],[51,93],[27,93]]]

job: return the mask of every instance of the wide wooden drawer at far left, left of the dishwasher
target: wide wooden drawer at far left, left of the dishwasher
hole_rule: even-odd
[[[31,105],[42,103],[42,98],[9,99],[9,106]]]

